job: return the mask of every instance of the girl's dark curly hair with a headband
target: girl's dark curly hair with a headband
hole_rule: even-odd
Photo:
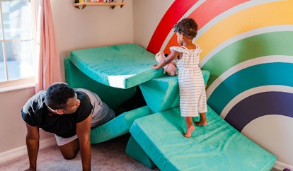
[[[190,38],[194,38],[197,35],[198,26],[193,18],[183,18],[177,23],[177,27],[180,29],[181,33]]]

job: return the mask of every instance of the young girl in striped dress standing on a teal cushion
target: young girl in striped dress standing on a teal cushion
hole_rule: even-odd
[[[190,137],[195,126],[193,117],[198,117],[200,121],[195,122],[197,126],[205,126],[207,119],[207,98],[205,94],[205,82],[200,70],[200,49],[193,44],[193,38],[197,35],[197,23],[193,18],[184,18],[174,25],[174,32],[177,35],[177,42],[180,47],[170,47],[171,54],[157,65],[151,66],[154,69],[161,69],[166,64],[176,59],[178,67],[178,83],[180,93],[180,112],[185,119],[187,126],[185,137]]]

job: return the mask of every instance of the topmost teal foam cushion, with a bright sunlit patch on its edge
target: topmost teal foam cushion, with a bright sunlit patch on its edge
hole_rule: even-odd
[[[69,60],[93,80],[115,88],[132,88],[163,76],[154,54],[136,44],[113,45],[72,51]]]

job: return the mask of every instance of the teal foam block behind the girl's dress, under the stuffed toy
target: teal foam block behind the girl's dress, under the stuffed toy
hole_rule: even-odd
[[[202,70],[205,84],[209,80],[209,71]],[[178,76],[154,78],[139,85],[146,104],[151,112],[162,112],[179,106]]]

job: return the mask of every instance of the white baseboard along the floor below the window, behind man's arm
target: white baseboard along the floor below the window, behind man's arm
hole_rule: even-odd
[[[57,144],[56,139],[54,137],[47,138],[40,141],[40,149],[47,148],[56,144]],[[21,157],[22,155],[26,155],[26,154],[28,154],[28,151],[26,150],[26,146],[14,148],[10,151],[4,151],[3,153],[0,153],[0,163],[6,162],[13,158]]]

